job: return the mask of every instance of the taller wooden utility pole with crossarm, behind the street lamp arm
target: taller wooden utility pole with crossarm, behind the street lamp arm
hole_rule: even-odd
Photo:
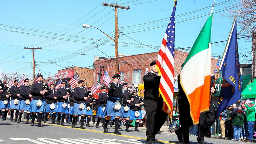
[[[125,10],[128,10],[130,9],[130,7],[128,6],[121,6],[121,5],[117,5],[116,4],[108,4],[108,3],[105,3],[103,2],[102,5],[104,6],[111,6],[111,7],[114,7],[115,8],[115,73],[117,74],[118,73],[118,18],[117,18],[117,8],[119,9],[125,9]]]

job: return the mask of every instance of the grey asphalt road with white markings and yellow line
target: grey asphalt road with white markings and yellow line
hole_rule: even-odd
[[[109,133],[104,133],[103,128],[95,128],[94,124],[86,129],[80,129],[79,125],[72,128],[68,123],[65,126],[57,126],[49,121],[43,127],[37,127],[21,123],[15,123],[9,119],[0,120],[0,144],[142,144],[145,143],[146,131],[139,129],[139,132],[133,131],[134,127],[130,127],[130,132],[125,132],[123,126],[120,132],[122,135],[114,134],[114,126],[108,127]],[[101,126],[101,125],[100,125]],[[157,144],[181,144],[174,133],[162,132],[156,135]],[[190,136],[191,144],[197,144],[197,137]],[[205,138],[208,144],[228,144],[247,143],[244,141],[220,140],[215,138]]]

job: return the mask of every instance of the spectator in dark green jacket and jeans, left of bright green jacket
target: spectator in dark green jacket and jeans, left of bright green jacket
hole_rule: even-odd
[[[240,131],[242,130],[242,126],[244,126],[245,114],[241,110],[241,106],[237,107],[236,111],[233,111],[232,115],[232,125],[234,131],[233,141],[240,141]]]

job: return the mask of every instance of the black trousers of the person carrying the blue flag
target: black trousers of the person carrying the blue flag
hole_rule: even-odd
[[[198,129],[197,129],[197,142],[204,142],[204,133],[209,129],[215,122],[216,111],[212,102],[210,102],[209,111],[200,113]]]

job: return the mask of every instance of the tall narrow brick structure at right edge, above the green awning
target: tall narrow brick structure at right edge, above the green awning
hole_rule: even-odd
[[[254,31],[252,37],[252,78],[256,78],[256,31]]]

